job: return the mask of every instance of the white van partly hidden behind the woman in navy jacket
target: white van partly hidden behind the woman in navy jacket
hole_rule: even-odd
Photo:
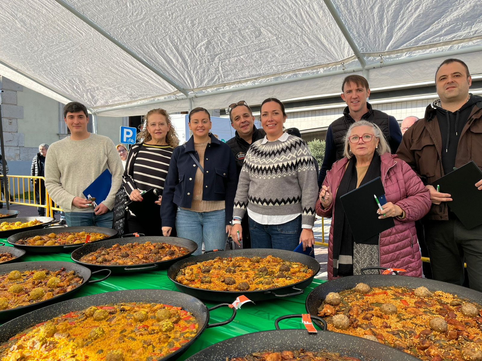
[[[174,129],[176,129],[177,136],[179,137],[179,144],[187,142],[187,140],[191,137],[189,133],[189,126],[187,125],[187,123],[189,122],[189,116],[187,114],[172,114],[171,120]],[[216,134],[221,142],[226,143],[229,139],[234,137],[236,130],[231,127],[231,122],[229,118],[212,116],[211,122],[213,123],[211,133]],[[257,120],[254,121],[254,124],[258,129],[261,127],[261,124]]]

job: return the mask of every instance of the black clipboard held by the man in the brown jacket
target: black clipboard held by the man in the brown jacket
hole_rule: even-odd
[[[475,186],[481,179],[482,171],[470,161],[432,183],[435,189],[440,186],[441,193],[450,194],[447,206],[468,230],[482,224],[482,191]]]

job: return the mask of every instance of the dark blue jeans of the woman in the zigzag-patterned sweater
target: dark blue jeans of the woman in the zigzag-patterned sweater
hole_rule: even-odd
[[[249,219],[251,248],[293,251],[300,243],[301,215],[283,224],[260,224]]]

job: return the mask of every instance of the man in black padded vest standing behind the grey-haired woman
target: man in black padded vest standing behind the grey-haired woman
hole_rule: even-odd
[[[318,187],[321,188],[326,172],[332,168],[333,163],[343,158],[343,138],[354,122],[368,120],[382,130],[390,145],[392,154],[397,152],[402,142],[402,131],[394,116],[380,112],[367,103],[370,96],[368,81],[360,75],[349,75],[343,79],[341,85],[341,98],[347,103],[343,116],[336,119],[326,131],[325,157],[318,176]]]

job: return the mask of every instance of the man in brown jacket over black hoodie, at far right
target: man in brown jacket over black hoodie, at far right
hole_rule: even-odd
[[[465,261],[470,288],[482,291],[482,225],[466,229],[447,207],[450,194],[430,185],[471,160],[482,169],[482,97],[469,94],[471,82],[463,61],[445,60],[435,74],[440,99],[406,131],[397,154],[430,191],[424,228],[433,278],[462,285]],[[482,180],[474,187],[482,192]]]

